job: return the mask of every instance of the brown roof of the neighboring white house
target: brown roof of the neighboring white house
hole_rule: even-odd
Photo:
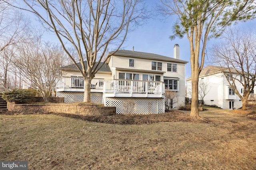
[[[202,71],[200,72],[199,78],[204,77],[204,76],[209,76],[212,74],[218,74],[223,71],[226,72],[226,70],[228,71],[228,68],[209,65],[202,69]],[[231,69],[231,70],[233,72],[236,72],[234,69]],[[189,78],[187,78],[186,80],[191,80],[191,76]]]

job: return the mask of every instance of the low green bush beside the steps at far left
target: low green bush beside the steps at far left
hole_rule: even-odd
[[[30,97],[37,95],[38,92],[36,90],[14,89],[4,92],[2,98],[7,102],[28,103],[32,102],[32,98]]]

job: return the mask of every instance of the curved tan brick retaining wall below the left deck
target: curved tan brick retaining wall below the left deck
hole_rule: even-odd
[[[59,103],[59,104],[15,104],[7,103],[8,111],[19,113],[69,113],[76,115],[114,115],[116,107],[97,106],[96,104]]]

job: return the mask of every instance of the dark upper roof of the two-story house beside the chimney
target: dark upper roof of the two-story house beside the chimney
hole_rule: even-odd
[[[110,54],[113,52],[110,52]],[[122,57],[134,57],[134,58],[141,58],[141,59],[153,59],[158,61],[169,61],[169,62],[175,62],[175,63],[188,63],[188,61],[174,59],[171,57],[167,57],[164,55],[158,55],[153,53],[144,53],[144,52],[138,52],[138,51],[130,51],[130,50],[118,50],[116,53],[114,53],[114,56],[122,56]]]

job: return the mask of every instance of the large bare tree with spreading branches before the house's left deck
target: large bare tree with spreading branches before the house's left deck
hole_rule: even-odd
[[[57,35],[62,48],[82,74],[84,102],[90,102],[90,86],[96,72],[120,49],[128,31],[147,18],[141,1],[24,0],[28,7],[25,10],[36,14],[44,27]],[[76,49],[81,68],[70,54],[69,45]],[[114,50],[107,54],[109,47]]]

